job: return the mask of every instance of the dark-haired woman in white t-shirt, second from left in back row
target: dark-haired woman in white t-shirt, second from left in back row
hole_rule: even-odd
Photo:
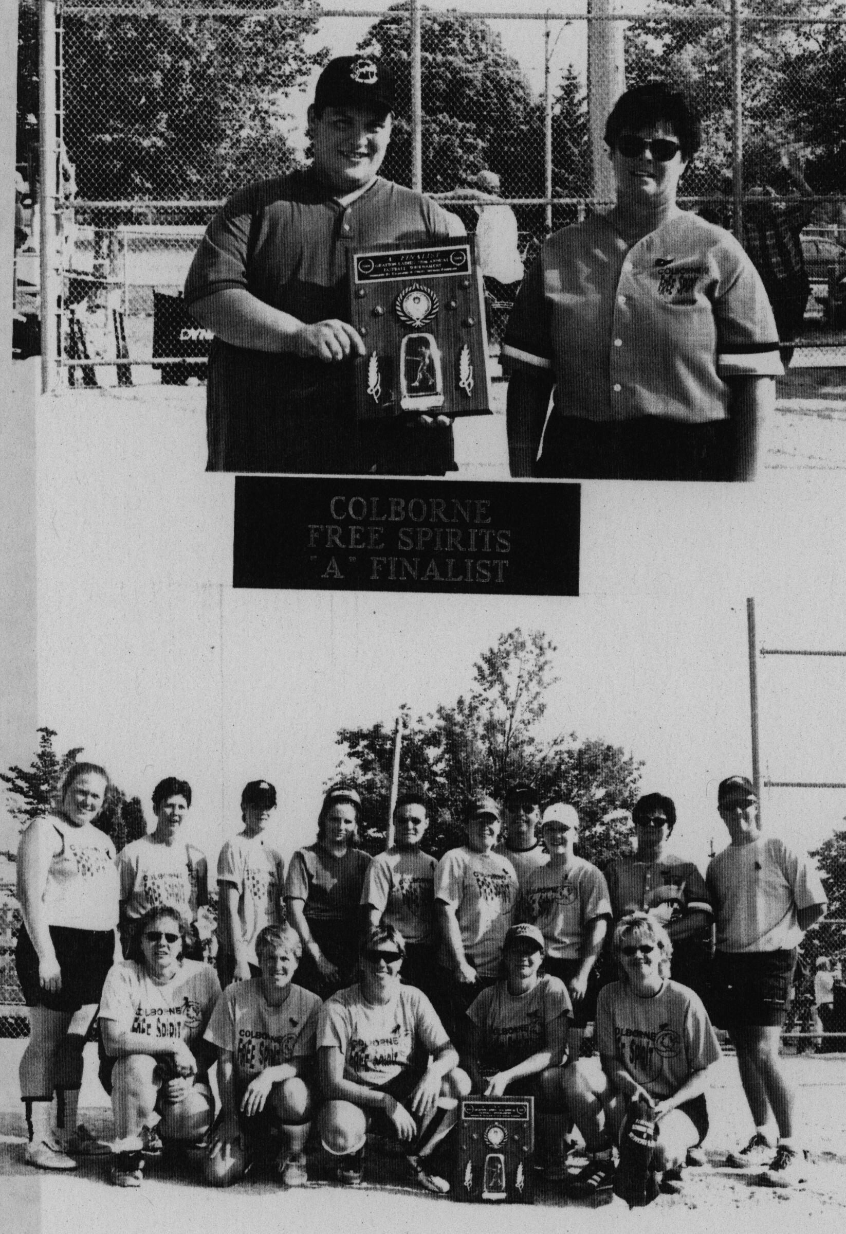
[[[155,830],[121,849],[121,942],[126,951],[129,934],[149,908],[170,905],[190,926],[197,908],[208,903],[208,864],[192,844],[180,843],[179,833],[191,808],[191,785],[169,775],[153,789]],[[191,945],[191,958],[202,959]],[[199,942],[199,939],[196,940]]]

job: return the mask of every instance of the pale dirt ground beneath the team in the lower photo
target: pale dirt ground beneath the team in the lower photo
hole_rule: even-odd
[[[329,1181],[319,1160],[310,1164],[313,1181],[302,1190],[280,1191],[266,1177],[224,1192],[211,1191],[196,1174],[166,1160],[148,1166],[138,1191],[121,1191],[107,1181],[107,1160],[90,1160],[75,1174],[38,1172],[23,1162],[26,1132],[17,1088],[17,1064],[25,1041],[0,1041],[0,1176],[4,1202],[0,1230],[15,1234],[203,1234],[259,1230],[281,1222],[296,1230],[344,1234],[403,1234],[408,1230],[483,1229],[499,1234],[519,1219],[514,1208],[469,1207],[429,1196],[409,1181],[401,1161],[369,1150],[365,1186],[342,1190]],[[598,1065],[596,1061],[592,1065]],[[751,1178],[721,1165],[726,1150],[751,1133],[734,1058],[718,1066],[709,1095],[708,1164],[686,1171],[681,1196],[660,1196],[646,1209],[629,1212],[614,1198],[603,1208],[567,1202],[559,1188],[538,1186],[532,1209],[533,1232],[566,1228],[572,1234],[603,1230],[828,1230],[846,1220],[846,1056],[786,1058],[797,1087],[802,1143],[809,1150],[809,1180],[792,1192],[755,1186]],[[81,1107],[84,1120],[101,1137],[112,1134],[109,1101],[96,1079],[96,1050],[86,1046]],[[799,1137],[798,1137],[799,1138]],[[566,1209],[566,1212],[562,1212]],[[429,1224],[432,1223],[432,1224]]]

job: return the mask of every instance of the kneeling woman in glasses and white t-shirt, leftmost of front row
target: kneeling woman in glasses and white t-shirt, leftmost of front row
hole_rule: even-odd
[[[213,1050],[202,1034],[221,986],[210,965],[184,959],[184,945],[178,909],[150,908],[138,923],[137,959],[116,964],[102,988],[100,1079],[112,1098],[112,1181],[121,1187],[141,1186],[143,1156],[160,1153],[159,1134],[197,1144],[215,1118]]]

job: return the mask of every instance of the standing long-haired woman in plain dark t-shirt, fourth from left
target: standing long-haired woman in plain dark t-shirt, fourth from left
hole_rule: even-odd
[[[369,855],[355,848],[360,813],[355,789],[329,789],[317,819],[317,843],[297,849],[285,880],[287,918],[302,942],[297,985],[322,998],[355,979],[359,905],[370,865]]]

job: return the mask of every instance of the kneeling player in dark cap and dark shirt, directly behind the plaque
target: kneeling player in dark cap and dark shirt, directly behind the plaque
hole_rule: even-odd
[[[539,1138],[554,1176],[564,1165],[561,1075],[572,1004],[562,981],[539,975],[543,959],[538,927],[512,926],[502,954],[504,975],[467,1011],[461,1065],[485,1097],[508,1092],[536,1098]]]

